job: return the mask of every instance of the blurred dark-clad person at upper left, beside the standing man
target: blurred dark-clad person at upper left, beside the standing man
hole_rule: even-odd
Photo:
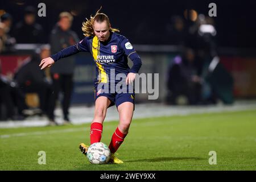
[[[42,26],[36,23],[36,9],[32,6],[26,7],[24,19],[16,24],[13,34],[19,44],[46,43]]]

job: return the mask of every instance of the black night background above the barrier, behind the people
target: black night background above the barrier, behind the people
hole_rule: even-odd
[[[72,11],[77,14],[72,30],[80,39],[83,37],[81,24],[85,18],[95,14],[102,5],[102,12],[110,18],[112,26],[119,28],[133,44],[168,44],[164,41],[164,28],[171,22],[171,16],[181,15],[184,18],[186,9],[194,9],[198,14],[208,16],[209,3],[217,5],[217,17],[214,18],[217,30],[217,43],[221,47],[254,48],[256,41],[256,1],[25,1],[1,0],[1,8],[13,15],[14,24],[23,17],[24,7],[38,6],[46,3],[46,17],[38,17],[48,34],[61,11]],[[186,20],[187,25],[191,22]]]

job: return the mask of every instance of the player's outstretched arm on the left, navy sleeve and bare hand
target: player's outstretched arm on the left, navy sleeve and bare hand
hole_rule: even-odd
[[[76,53],[80,51],[88,52],[88,44],[87,44],[87,38],[82,39],[79,43],[69,46],[65,49],[62,49],[61,51],[55,53],[54,55],[51,55],[50,57],[47,57],[46,59],[43,59],[41,63],[39,64],[39,67],[41,69],[51,67],[57,60],[63,58],[63,57],[68,57],[71,55],[75,55]]]

